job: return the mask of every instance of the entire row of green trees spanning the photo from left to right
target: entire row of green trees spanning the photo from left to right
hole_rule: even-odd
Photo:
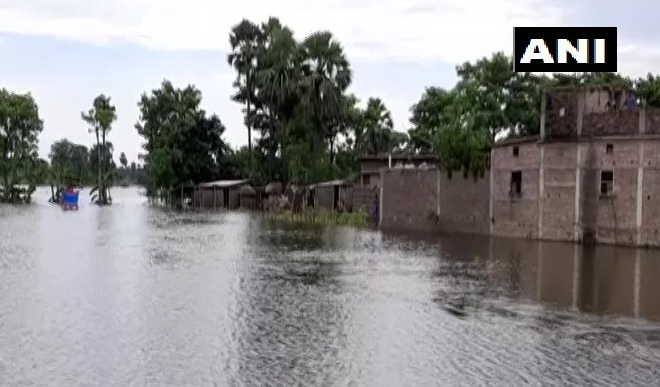
[[[109,134],[117,112],[104,95],[81,114],[93,146],[63,139],[52,145],[48,161],[40,160],[43,122],[36,102],[2,89],[0,185],[22,183],[29,192],[40,182],[75,180],[93,185],[95,200],[105,204],[111,201],[109,188],[122,181],[163,196],[182,184],[217,179],[305,185],[353,176],[360,155],[397,152],[434,154],[445,170],[477,174],[488,166],[484,150],[499,138],[538,134],[546,88],[624,86],[660,106],[660,78],[651,74],[632,79],[616,73],[514,73],[512,58],[497,52],[458,65],[452,87],[427,87],[402,132],[394,129],[383,100],[348,92],[353,70],[332,33],[297,39],[277,18],[243,20],[230,31],[229,43],[227,62],[236,74],[230,98],[243,107],[246,146],[232,149],[225,141],[220,117],[201,109],[199,89],[164,80],[139,99],[135,129],[143,151],[130,166],[125,155],[121,167],[113,161]],[[12,189],[0,193],[3,201],[20,197]]]

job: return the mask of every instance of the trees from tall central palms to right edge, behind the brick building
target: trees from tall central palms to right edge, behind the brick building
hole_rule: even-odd
[[[298,40],[277,18],[243,20],[229,41],[231,98],[244,107],[247,130],[244,170],[262,181],[349,177],[358,156],[391,152],[434,154],[445,170],[483,173],[484,150],[496,140],[539,133],[541,92],[554,86],[623,86],[660,106],[660,78],[651,74],[515,73],[512,57],[496,52],[456,66],[452,87],[427,87],[411,107],[409,129],[400,132],[381,99],[361,104],[347,92],[353,71],[332,33]]]

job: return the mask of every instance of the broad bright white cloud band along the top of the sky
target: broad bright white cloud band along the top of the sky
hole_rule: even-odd
[[[232,25],[278,16],[299,36],[328,29],[352,59],[461,62],[512,48],[515,25],[562,25],[540,0],[309,2],[217,0],[24,0],[0,3],[0,32],[107,44],[128,40],[164,50],[227,49]]]

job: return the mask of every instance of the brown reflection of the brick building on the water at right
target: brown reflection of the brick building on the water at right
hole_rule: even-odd
[[[454,261],[452,276],[479,277],[482,290],[491,296],[501,293],[547,306],[660,321],[655,296],[660,282],[654,280],[660,275],[660,251],[479,236],[434,239]],[[457,275],[459,268],[463,276]]]

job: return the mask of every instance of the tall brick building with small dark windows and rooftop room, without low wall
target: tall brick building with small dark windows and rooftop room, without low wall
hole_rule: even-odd
[[[492,152],[491,233],[660,245],[660,110],[623,89],[555,89],[541,133]]]

